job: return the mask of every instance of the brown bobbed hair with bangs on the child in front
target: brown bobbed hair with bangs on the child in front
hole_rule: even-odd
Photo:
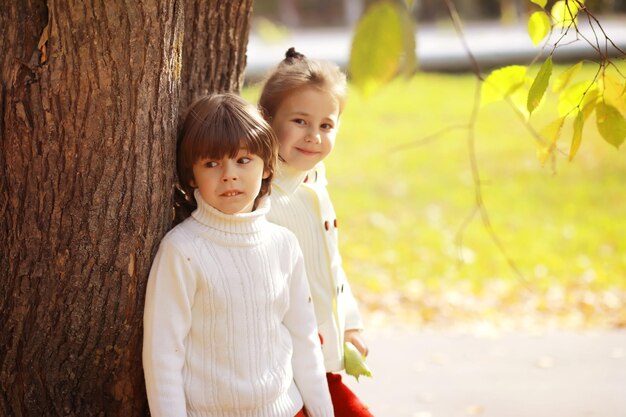
[[[196,100],[188,109],[177,149],[178,180],[183,191],[193,196],[193,165],[200,159],[234,158],[240,149],[263,160],[269,176],[263,179],[258,199],[270,193],[278,155],[276,135],[259,111],[241,97],[212,94]]]

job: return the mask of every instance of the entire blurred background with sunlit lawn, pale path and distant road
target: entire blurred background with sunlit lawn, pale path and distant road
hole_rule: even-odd
[[[256,0],[243,95],[256,101],[291,46],[349,71],[369,3]],[[540,64],[562,35],[535,46],[527,0],[453,3],[483,77]],[[625,50],[626,1],[585,4]],[[504,102],[480,107],[469,128],[478,78],[445,2],[416,0],[410,11],[416,73],[369,96],[351,87],[326,160],[372,348],[374,379],[354,389],[379,417],[626,416],[626,150],[589,122],[569,161],[566,124],[556,156],[542,163],[531,130]],[[593,39],[589,23],[579,30]],[[598,52],[567,36],[554,76],[584,59],[577,77],[593,79]],[[624,56],[611,59],[626,87]],[[532,126],[549,124],[557,106],[545,98]],[[504,253],[476,214],[470,140]]]

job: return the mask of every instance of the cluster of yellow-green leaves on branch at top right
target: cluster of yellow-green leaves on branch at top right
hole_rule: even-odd
[[[528,67],[511,65],[491,72],[482,86],[481,104],[505,100],[516,107],[530,123],[530,116],[540,108],[546,94],[556,96],[558,102],[557,117],[537,134],[542,144],[538,157],[543,163],[554,156],[557,141],[566,123],[572,123],[572,137],[568,156],[572,160],[580,148],[583,129],[589,116],[595,114],[595,127],[600,136],[611,145],[619,148],[626,139],[626,77],[619,67],[611,62],[606,48],[601,48],[599,40],[591,43],[600,54],[598,70],[593,79],[578,80],[583,61],[576,62],[563,73],[553,77],[553,55],[564,35],[578,30],[579,16],[594,20],[586,9],[583,0],[557,1],[548,12],[545,0],[531,0],[541,10],[531,14],[528,20],[528,34],[535,45],[548,38],[551,33],[561,30],[560,38],[554,43],[552,51],[542,63],[534,77],[527,75]],[[601,30],[599,22],[595,20]],[[595,33],[595,32],[594,32]],[[610,41],[606,38],[606,43]],[[551,85],[551,89],[549,89]]]

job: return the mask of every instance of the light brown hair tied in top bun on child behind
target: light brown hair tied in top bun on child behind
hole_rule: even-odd
[[[269,74],[261,97],[259,108],[266,120],[276,115],[278,107],[292,92],[314,87],[331,94],[339,103],[339,114],[346,102],[346,75],[336,64],[309,59],[294,48],[289,48],[278,66]]]

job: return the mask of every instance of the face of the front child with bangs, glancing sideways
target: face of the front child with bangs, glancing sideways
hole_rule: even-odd
[[[193,164],[192,187],[198,188],[202,199],[226,214],[252,211],[261,189],[261,181],[269,176],[263,160],[246,149],[235,158],[200,159]]]

